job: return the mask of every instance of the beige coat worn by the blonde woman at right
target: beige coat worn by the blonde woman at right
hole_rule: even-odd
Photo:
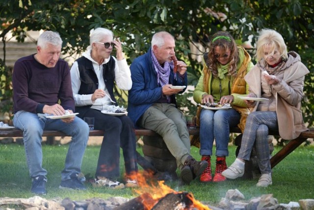
[[[249,84],[250,91],[254,92],[257,97],[262,96],[262,87],[265,86],[265,82],[261,80],[265,65],[265,60],[261,60],[244,77]],[[275,73],[275,76],[281,81],[277,85],[268,85],[267,89],[263,89],[263,97],[267,95],[267,91],[274,95],[274,100],[270,99],[269,103],[274,103],[275,106],[268,104],[268,107],[274,107],[274,111],[277,112],[279,134],[283,139],[295,139],[301,132],[308,130],[303,122],[301,100],[304,78],[309,72],[301,62],[300,56],[295,52],[289,52],[286,64],[281,71]],[[264,107],[259,106],[258,101],[253,111],[259,111]],[[270,109],[270,111],[272,110]]]

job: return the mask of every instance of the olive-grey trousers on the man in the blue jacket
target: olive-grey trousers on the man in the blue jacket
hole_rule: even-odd
[[[191,148],[183,113],[174,104],[156,103],[143,114],[140,125],[162,137],[181,170]]]

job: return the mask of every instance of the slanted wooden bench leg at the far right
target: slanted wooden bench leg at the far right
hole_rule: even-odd
[[[270,158],[271,168],[274,168],[280,161],[288,156],[293,150],[299,147],[307,138],[296,138],[291,140],[285,147],[278,151],[272,158]]]

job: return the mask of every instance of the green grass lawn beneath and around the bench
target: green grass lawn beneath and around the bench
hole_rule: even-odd
[[[43,146],[43,166],[48,171],[48,183],[46,199],[66,197],[72,200],[85,200],[99,197],[109,198],[122,196],[125,198],[136,197],[131,189],[112,190],[105,188],[93,188],[86,184],[86,191],[71,191],[59,189],[61,180],[60,172],[64,167],[64,159],[67,145]],[[83,158],[82,172],[94,176],[100,146],[88,146]],[[278,151],[280,148],[275,148]],[[141,152],[141,148],[138,148]],[[230,156],[227,164],[235,160],[235,146],[230,147]],[[122,153],[122,152],[121,152]],[[198,149],[192,147],[192,155],[200,159]],[[213,157],[212,159],[215,159]],[[124,173],[123,158],[120,164],[121,174]],[[190,185],[179,185],[179,181],[166,182],[167,185],[177,191],[187,191],[194,194],[197,200],[208,202],[211,205],[219,203],[228,189],[238,189],[246,199],[257,197],[262,194],[273,194],[279,203],[288,203],[300,199],[314,199],[314,146],[299,147],[288,155],[273,169],[273,185],[268,188],[257,188],[258,180],[227,180],[219,183],[201,183],[194,180]],[[140,167],[140,170],[142,168]],[[214,171],[214,164],[212,164]],[[121,176],[122,180],[122,176]],[[0,144],[0,197],[28,198],[31,180],[28,177],[24,147],[16,144]]]

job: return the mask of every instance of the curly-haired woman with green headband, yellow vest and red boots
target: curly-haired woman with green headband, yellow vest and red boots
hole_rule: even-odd
[[[221,173],[227,169],[226,156],[229,155],[229,129],[237,124],[244,129],[249,109],[239,96],[248,94],[244,76],[253,67],[250,55],[226,31],[218,31],[209,42],[209,52],[204,54],[204,68],[193,98],[196,103],[206,105],[226,105],[229,108],[202,108],[197,111],[200,125],[200,154],[209,163],[201,175],[202,182],[224,181]],[[204,106],[203,106],[204,107]],[[216,142],[216,170],[211,177],[210,156],[213,141]]]

